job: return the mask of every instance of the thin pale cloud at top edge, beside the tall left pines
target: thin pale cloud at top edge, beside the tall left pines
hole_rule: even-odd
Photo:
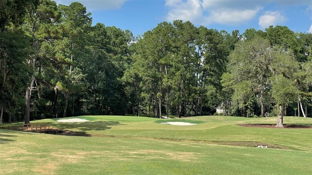
[[[69,5],[71,2],[80,2],[88,11],[119,9],[127,0],[56,0],[58,4]]]

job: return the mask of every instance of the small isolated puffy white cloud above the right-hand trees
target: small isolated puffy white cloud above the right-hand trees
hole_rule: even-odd
[[[285,22],[287,19],[279,11],[267,11],[259,18],[259,25],[261,28],[267,28],[270,25],[277,25]]]

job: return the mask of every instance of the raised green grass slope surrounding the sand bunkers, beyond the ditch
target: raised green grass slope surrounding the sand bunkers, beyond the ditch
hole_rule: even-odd
[[[59,123],[53,119],[35,122],[52,122],[57,128],[89,134],[122,137],[148,137],[218,142],[264,142],[295,150],[312,151],[311,129],[272,129],[237,126],[242,123],[276,123],[276,118],[244,118],[230,116],[201,116],[181,119],[157,119],[130,116],[80,116],[91,122]],[[191,126],[173,126],[161,122],[182,121],[198,123]],[[312,125],[312,118],[285,117],[285,124]]]

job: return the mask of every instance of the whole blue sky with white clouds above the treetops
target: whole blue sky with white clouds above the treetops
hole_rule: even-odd
[[[129,29],[134,36],[174,20],[228,32],[286,25],[312,33],[312,0],[56,0],[66,5],[73,1],[87,7],[93,24]]]

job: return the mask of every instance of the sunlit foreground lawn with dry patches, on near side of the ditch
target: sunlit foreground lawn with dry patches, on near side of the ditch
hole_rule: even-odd
[[[3,175],[312,173],[312,152],[8,130],[0,130],[0,160]]]

